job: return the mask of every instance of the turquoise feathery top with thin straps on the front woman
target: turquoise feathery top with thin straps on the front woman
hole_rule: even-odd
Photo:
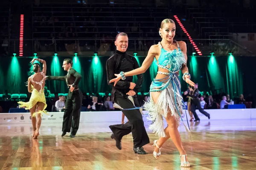
[[[158,67],[164,68],[171,73],[175,73],[180,70],[183,64],[186,64],[184,53],[180,50],[178,42],[178,49],[172,51],[166,51],[160,42],[158,42],[158,44],[161,47],[161,54],[157,61]]]

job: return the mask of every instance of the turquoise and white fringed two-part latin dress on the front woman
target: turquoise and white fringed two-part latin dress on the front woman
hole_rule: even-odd
[[[156,135],[166,137],[164,133],[163,117],[171,111],[171,115],[175,117],[178,125],[180,125],[181,114],[183,113],[184,104],[180,91],[180,79],[176,74],[186,64],[186,59],[183,52],[180,50],[180,45],[177,42],[177,49],[166,51],[161,43],[161,54],[158,58],[157,65],[159,68],[164,68],[169,73],[158,71],[158,74],[165,74],[166,78],[154,79],[150,86],[150,92],[160,92],[157,103],[151,97],[148,102],[145,102],[144,109],[148,111],[148,120],[152,121],[149,129],[153,130]],[[168,107],[167,107],[168,106]]]

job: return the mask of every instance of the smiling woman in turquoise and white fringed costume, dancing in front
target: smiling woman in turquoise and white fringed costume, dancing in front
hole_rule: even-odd
[[[111,79],[110,82],[114,82],[115,86],[120,79],[143,74],[152,64],[154,58],[157,60],[158,71],[156,78],[150,86],[150,101],[144,105],[145,110],[148,111],[149,119],[153,121],[149,128],[160,136],[160,139],[154,141],[153,155],[158,159],[161,154],[160,149],[162,145],[171,137],[180,152],[180,166],[190,167],[177,129],[182,111],[185,108],[180,92],[180,79],[178,77],[180,69],[183,73],[184,81],[191,86],[194,86],[195,83],[190,80],[190,74],[186,66],[186,43],[174,40],[175,30],[176,26],[173,20],[163,20],[159,30],[162,41],[157,45],[151,46],[142,66],[128,72],[120,70],[121,72],[115,74],[116,78]],[[168,123],[165,129],[163,127],[163,117],[165,117]],[[187,127],[186,129],[190,131]]]

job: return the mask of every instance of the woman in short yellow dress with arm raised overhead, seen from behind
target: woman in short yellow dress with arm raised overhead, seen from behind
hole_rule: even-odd
[[[43,64],[43,70],[41,71],[40,65],[34,63],[37,60]],[[33,59],[31,61],[33,64],[33,71],[35,72],[28,79],[28,91],[31,94],[29,102],[18,102],[20,107],[29,110],[31,113],[31,120],[33,126],[33,139],[38,139],[39,128],[41,126],[41,116],[42,113],[46,113],[45,108],[47,107],[46,99],[44,96],[44,84],[45,84],[45,74],[46,74],[46,62],[43,59]],[[35,117],[37,116],[37,118]]]

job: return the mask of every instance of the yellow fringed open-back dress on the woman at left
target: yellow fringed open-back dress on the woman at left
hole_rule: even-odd
[[[34,82],[36,84],[39,84],[41,86],[41,89],[40,91],[36,90],[33,85],[31,85],[31,88],[32,88],[32,94],[31,94],[31,97],[29,99],[29,102],[18,102],[20,104],[20,108],[23,108],[25,107],[26,110],[29,110],[31,109],[33,106],[35,106],[38,102],[43,102],[44,103],[44,109],[42,111],[37,111],[37,112],[34,112],[33,113],[33,117],[35,117],[36,114],[41,114],[42,116],[42,113],[45,113],[47,115],[49,115],[47,113],[47,111],[45,111],[45,109],[47,108],[47,104],[46,104],[46,99],[45,99],[45,96],[44,96],[44,91],[42,90],[42,87],[43,87],[43,82],[44,82],[44,79],[45,79],[45,75],[44,75],[44,72],[41,72],[41,75],[44,76],[44,78],[40,81],[40,82],[35,82],[33,80],[33,77],[34,75],[31,76],[31,82]]]

